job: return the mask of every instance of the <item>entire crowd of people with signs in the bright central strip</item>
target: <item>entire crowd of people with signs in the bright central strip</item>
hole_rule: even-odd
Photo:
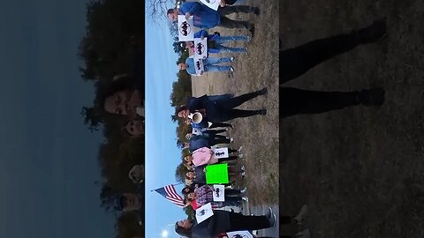
[[[221,36],[220,33],[209,34],[208,28],[222,26],[227,28],[244,28],[250,31],[254,37],[254,24],[247,21],[231,20],[225,17],[226,14],[233,12],[260,14],[259,8],[246,5],[229,5],[236,1],[221,1],[221,8],[214,11],[204,4],[197,2],[186,2],[180,5],[179,9],[170,9],[167,16],[171,21],[177,21],[178,15],[185,15],[186,19],[193,16],[193,25],[202,30],[194,33],[195,38],[208,40],[208,54],[216,53],[244,53],[247,55],[247,48],[231,48],[224,46],[223,43],[228,41],[250,41],[251,37],[246,35],[239,36]],[[185,43],[186,48],[196,50],[192,41]],[[204,71],[234,71],[232,66],[217,65],[219,63],[231,63],[234,57],[210,57],[204,59]],[[194,59],[189,57],[186,63],[179,63],[180,70],[186,70],[189,74],[196,74],[194,68]],[[201,71],[200,74],[203,72]],[[192,133],[186,135],[188,142],[185,148],[189,154],[183,157],[182,163],[186,166],[186,187],[181,191],[184,195],[185,204],[192,206],[193,210],[197,210],[202,205],[211,204],[214,209],[214,215],[201,223],[196,219],[184,219],[176,222],[175,230],[177,234],[184,237],[205,237],[216,238],[226,237],[227,232],[231,231],[253,231],[257,229],[269,228],[276,226],[276,214],[269,208],[269,212],[263,216],[245,216],[238,212],[226,211],[226,206],[241,206],[243,201],[248,201],[246,196],[246,187],[236,190],[232,186],[236,180],[236,176],[245,177],[246,171],[244,166],[239,166],[239,160],[244,156],[241,153],[242,147],[239,149],[231,148],[234,141],[233,138],[226,137],[221,133],[226,133],[232,129],[234,125],[228,123],[236,118],[267,115],[266,108],[254,110],[239,109],[238,107],[247,100],[266,95],[268,89],[245,93],[234,96],[232,93],[223,95],[203,95],[201,97],[191,97],[186,101],[185,105],[181,105],[176,110],[176,116],[184,120],[186,125],[192,126]],[[193,114],[201,113],[201,123],[193,122]],[[217,129],[223,128],[223,129]],[[224,144],[229,148],[229,156],[227,158],[216,158],[213,150],[217,145]],[[224,201],[216,202],[213,199],[214,188],[212,184],[207,184],[206,167],[216,163],[228,163],[228,175],[230,182],[226,185],[224,191]],[[299,214],[299,218],[305,216],[306,211]],[[292,219],[292,218],[291,218]]]

